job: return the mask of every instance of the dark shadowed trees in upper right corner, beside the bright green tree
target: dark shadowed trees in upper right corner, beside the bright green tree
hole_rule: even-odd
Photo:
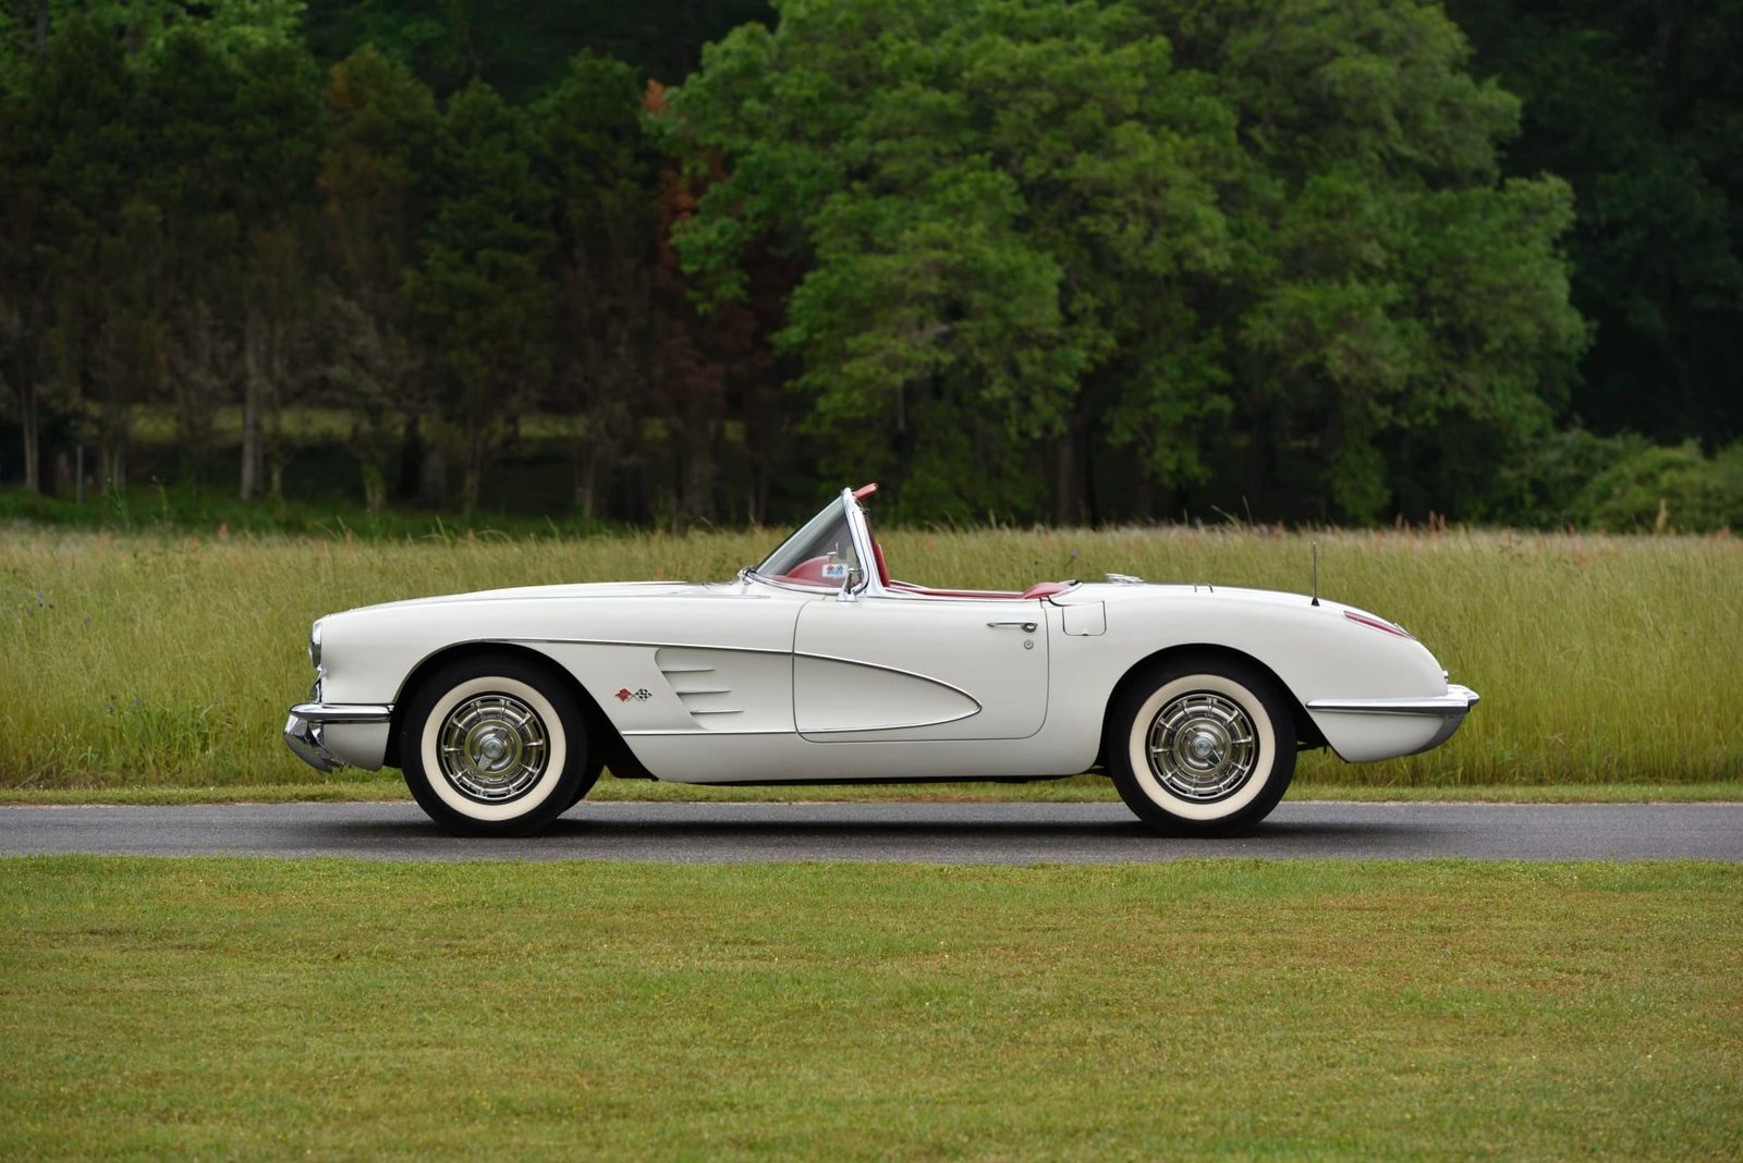
[[[1508,171],[1574,188],[1572,298],[1597,334],[1572,411],[1598,432],[1743,435],[1743,3],[1447,7],[1525,99]]]

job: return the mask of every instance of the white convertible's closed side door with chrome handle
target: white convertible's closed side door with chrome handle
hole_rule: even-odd
[[[866,595],[809,602],[793,717],[816,743],[1027,738],[1048,716],[1042,601]]]

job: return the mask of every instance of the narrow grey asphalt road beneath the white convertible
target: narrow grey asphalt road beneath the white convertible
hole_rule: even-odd
[[[0,808],[0,855],[366,860],[908,860],[1185,857],[1743,860],[1743,804],[1288,803],[1250,836],[1170,839],[1107,803],[596,803],[532,839],[455,839],[415,804]]]

